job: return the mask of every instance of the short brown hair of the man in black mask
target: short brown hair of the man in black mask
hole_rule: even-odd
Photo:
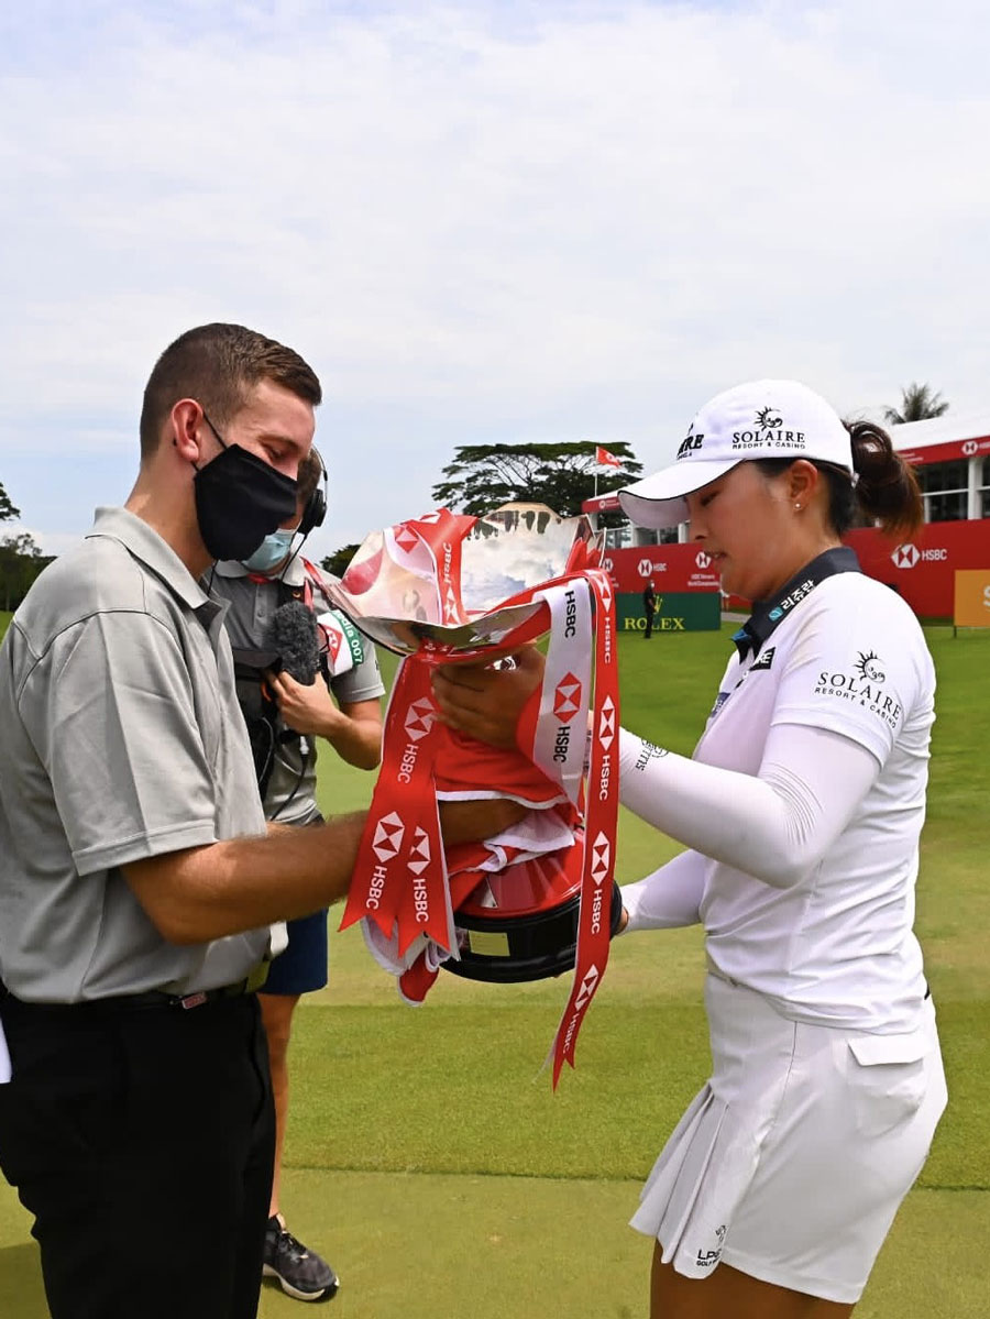
[[[141,408],[141,458],[158,447],[165,418],[181,398],[195,398],[225,426],[262,380],[314,408],[323,398],[315,371],[298,352],[244,326],[198,326],[169,344],[149,376]]]

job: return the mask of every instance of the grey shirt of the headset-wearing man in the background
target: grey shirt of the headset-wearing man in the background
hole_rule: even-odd
[[[286,565],[279,576],[289,587],[301,588],[305,584],[306,570],[299,555]],[[228,561],[216,563],[214,571],[207,575],[206,582],[210,583],[211,594],[228,601],[224,625],[233,646],[244,646],[248,650],[265,648],[272,619],[281,603],[278,580],[278,578],[258,580],[258,575],[249,574],[243,563]],[[322,613],[328,608],[331,608],[330,600],[316,590],[315,612]],[[330,690],[343,704],[373,700],[385,694],[374,646],[370,641],[361,640],[364,642],[361,663],[330,679]],[[285,728],[285,724],[282,727]],[[308,824],[319,818],[316,739],[291,739],[277,745],[272,777],[265,791],[265,815],[277,819],[279,824]]]

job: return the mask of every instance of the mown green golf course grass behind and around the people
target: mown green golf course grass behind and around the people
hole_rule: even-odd
[[[0,624],[1,625],[1,624]],[[728,636],[621,641],[624,723],[689,752]],[[990,637],[928,629],[939,669],[917,929],[950,1107],[857,1319],[987,1312],[990,931],[986,801]],[[386,667],[390,667],[386,661]],[[373,776],[326,756],[326,810],[366,801]],[[618,874],[678,851],[624,813]],[[566,979],[496,988],[442,975],[403,1006],[360,934],[335,931],[331,984],[298,1014],[283,1202],[344,1277],[337,1319],[598,1319],[646,1310],[649,1242],[626,1228],[638,1187],[708,1057],[699,930],[613,947],[577,1070],[540,1071]],[[0,1188],[0,1312],[40,1319],[28,1220]],[[949,1266],[950,1262],[950,1266]],[[264,1319],[298,1314],[265,1290]]]

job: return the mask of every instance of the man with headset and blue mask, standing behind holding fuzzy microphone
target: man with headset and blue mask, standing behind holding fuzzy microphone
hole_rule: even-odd
[[[323,818],[316,805],[318,739],[349,765],[377,768],[385,687],[374,646],[363,644],[360,633],[331,612],[322,575],[303,558],[306,537],[323,524],[327,509],[327,475],[315,445],[299,464],[298,481],[295,512],[286,525],[266,536],[244,562],[216,563],[204,580],[215,596],[229,603],[224,624],[241,711],[252,732],[265,816],[305,828]],[[320,619],[319,629],[315,617]],[[282,619],[291,621],[279,628]],[[258,662],[266,662],[266,648],[278,649],[279,638],[289,642],[283,649],[295,671],[283,669],[265,681]],[[258,993],[276,1101],[276,1165],[264,1265],[265,1274],[287,1295],[308,1302],[334,1297],[340,1279],[332,1265],[289,1231],[281,1212],[281,1174],[293,1017],[303,993],[327,984],[326,909],[290,921],[286,933],[289,944]]]

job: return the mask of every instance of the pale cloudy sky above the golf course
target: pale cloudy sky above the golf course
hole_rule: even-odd
[[[203,321],[327,401],[326,553],[460,443],[626,439],[795,376],[986,406],[990,18],[834,4],[36,4],[0,17],[0,481],[121,501]]]

